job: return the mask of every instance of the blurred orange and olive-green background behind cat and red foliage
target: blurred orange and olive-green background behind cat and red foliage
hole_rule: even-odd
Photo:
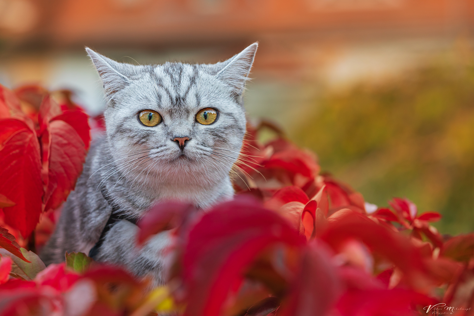
[[[368,202],[407,197],[474,230],[473,0],[0,0],[0,83],[103,108],[87,45],[127,63],[260,46],[246,92]]]

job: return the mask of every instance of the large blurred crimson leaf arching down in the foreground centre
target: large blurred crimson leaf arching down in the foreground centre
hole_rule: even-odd
[[[205,214],[189,234],[182,261],[185,315],[219,315],[248,265],[274,243],[302,246],[304,240],[285,219],[253,199],[237,197]]]

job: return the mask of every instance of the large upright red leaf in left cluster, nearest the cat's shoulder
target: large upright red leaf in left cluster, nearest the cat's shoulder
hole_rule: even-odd
[[[59,207],[74,190],[86,157],[84,143],[72,126],[55,120],[49,123],[49,132],[51,144],[45,211]]]

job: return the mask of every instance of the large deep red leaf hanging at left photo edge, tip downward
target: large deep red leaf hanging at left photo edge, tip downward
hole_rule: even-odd
[[[35,229],[41,213],[43,183],[39,144],[35,132],[21,121],[1,120],[0,135],[7,129],[10,136],[0,144],[0,193],[16,205],[3,211],[5,222],[26,238]]]

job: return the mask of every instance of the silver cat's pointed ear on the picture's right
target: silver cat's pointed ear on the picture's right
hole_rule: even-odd
[[[237,96],[242,95],[244,92],[245,82],[254,63],[257,47],[258,43],[255,42],[239,54],[228,59],[224,62],[227,63],[226,66],[217,74],[219,79],[226,82]]]

